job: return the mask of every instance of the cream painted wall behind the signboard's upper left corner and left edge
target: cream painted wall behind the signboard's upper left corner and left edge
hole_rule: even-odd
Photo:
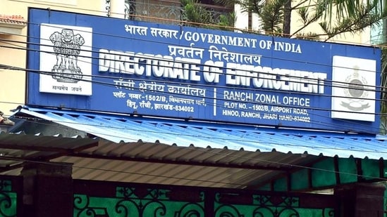
[[[105,0],[93,0],[93,3],[90,0],[0,0],[0,15],[21,15],[27,20],[28,7],[106,15]],[[25,68],[26,35],[27,27],[20,34],[0,34],[0,64]],[[0,76],[0,110],[8,116],[10,110],[25,103],[25,72],[0,69]]]

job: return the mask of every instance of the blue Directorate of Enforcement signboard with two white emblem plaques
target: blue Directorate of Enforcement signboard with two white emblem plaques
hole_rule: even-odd
[[[27,103],[379,129],[378,48],[30,9]]]

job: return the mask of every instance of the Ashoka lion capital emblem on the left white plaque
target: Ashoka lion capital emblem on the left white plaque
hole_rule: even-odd
[[[80,34],[74,34],[73,29],[62,29],[50,36],[54,44],[56,64],[51,72],[52,77],[59,82],[77,83],[82,79],[82,71],[78,67],[80,46],[85,44],[85,39]]]

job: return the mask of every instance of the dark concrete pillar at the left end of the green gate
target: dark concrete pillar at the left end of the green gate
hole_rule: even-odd
[[[18,216],[73,216],[72,164],[27,163],[23,166],[23,214]]]

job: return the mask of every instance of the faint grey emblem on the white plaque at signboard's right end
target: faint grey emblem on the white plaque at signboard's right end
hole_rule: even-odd
[[[343,107],[352,111],[362,111],[370,107],[369,103],[364,100],[368,98],[369,91],[367,91],[367,79],[359,74],[359,67],[355,66],[353,73],[345,78],[344,94],[347,98],[341,101]]]

